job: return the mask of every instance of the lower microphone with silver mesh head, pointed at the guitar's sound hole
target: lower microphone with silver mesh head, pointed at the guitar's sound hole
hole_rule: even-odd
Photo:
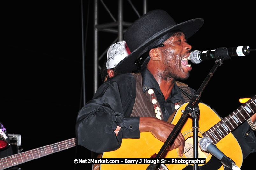
[[[221,161],[221,163],[232,169],[232,170],[240,170],[238,166],[236,166],[235,162],[231,160],[229,157],[227,157],[223,152],[221,152],[216,145],[213,144],[213,141],[209,137],[203,137],[199,141],[199,147],[203,151],[207,151],[213,156],[215,156],[217,159]]]

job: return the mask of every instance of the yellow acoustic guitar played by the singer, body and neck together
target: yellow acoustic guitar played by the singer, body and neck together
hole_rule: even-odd
[[[172,124],[176,124],[181,117],[181,110],[184,110],[188,103],[183,104],[177,111],[172,120]],[[256,96],[242,104],[237,110],[234,110],[224,119],[221,119],[210,107],[203,103],[199,103],[199,132],[198,141],[202,137],[209,137],[214,144],[228,157],[230,157],[238,167],[242,166],[243,155],[238,141],[231,131],[245,122],[256,112]],[[185,138],[184,155],[182,158],[193,158],[193,131],[192,119],[187,118],[186,123],[181,129],[181,133]],[[140,133],[140,139],[123,139],[121,147],[115,151],[104,152],[102,158],[150,158],[157,154],[162,147],[163,142],[156,139],[150,132]],[[198,146],[198,157],[205,158],[206,164],[201,164],[200,169],[222,169],[224,167],[214,156],[208,152],[202,151]],[[178,155],[178,148],[165,152],[164,158],[181,158]],[[149,164],[101,164],[95,169],[101,170],[141,170],[146,169]],[[193,169],[193,165],[186,164],[170,164],[165,165],[167,169]]]

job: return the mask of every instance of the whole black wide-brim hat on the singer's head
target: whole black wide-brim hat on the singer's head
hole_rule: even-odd
[[[138,72],[138,69],[134,66],[134,61],[155,40],[176,30],[183,32],[186,39],[188,39],[196,33],[203,23],[203,19],[197,18],[176,24],[166,11],[149,11],[137,19],[125,32],[124,40],[131,53],[117,64],[114,71],[117,73]]]

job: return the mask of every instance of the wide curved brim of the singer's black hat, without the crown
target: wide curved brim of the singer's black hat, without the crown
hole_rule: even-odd
[[[154,40],[160,38],[167,32],[171,32],[174,30],[181,30],[186,35],[186,38],[188,39],[193,34],[195,34],[197,30],[199,30],[199,28],[203,25],[203,23],[204,23],[203,19],[197,18],[197,19],[191,19],[191,20],[182,22],[177,25],[171,25],[163,29],[162,31],[150,37],[147,41],[145,41],[142,45],[140,45],[137,49],[135,49],[128,56],[126,56],[122,61],[120,61],[114,68],[114,71],[117,73],[138,72],[138,69],[134,66],[134,61],[137,58],[139,58],[139,54],[147,46],[149,46]]]

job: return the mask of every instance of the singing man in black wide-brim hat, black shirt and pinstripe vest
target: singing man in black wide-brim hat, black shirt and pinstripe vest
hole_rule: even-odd
[[[165,141],[174,127],[166,122],[168,117],[195,93],[176,80],[189,77],[192,67],[187,60],[192,47],[187,39],[203,22],[193,19],[176,24],[162,10],[135,21],[124,35],[131,54],[114,68],[123,74],[103,83],[78,114],[78,145],[97,153],[112,151],[120,147],[122,138],[139,138],[145,131]],[[182,156],[181,133],[169,149],[177,147]]]

